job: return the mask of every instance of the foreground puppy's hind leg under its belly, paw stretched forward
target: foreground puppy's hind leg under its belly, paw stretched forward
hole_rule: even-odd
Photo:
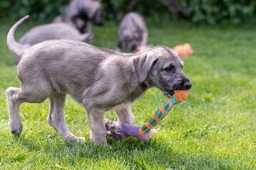
[[[64,116],[64,104],[66,94],[59,94],[53,91],[49,96],[49,113],[47,121],[48,123],[63,137],[67,142],[80,141],[83,142],[83,137],[76,137],[73,135],[65,123]]]

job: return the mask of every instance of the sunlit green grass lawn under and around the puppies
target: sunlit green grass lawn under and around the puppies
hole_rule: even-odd
[[[87,114],[70,96],[65,103],[68,128],[85,137],[66,143],[48,125],[48,101],[23,103],[21,137],[11,135],[5,90],[20,86],[16,64],[6,45],[12,23],[0,21],[0,169],[256,169],[256,29],[149,24],[149,44],[174,47],[189,42],[195,54],[184,59],[183,72],[193,81],[188,99],[175,106],[149,143],[129,137],[108,146],[89,139]],[[38,23],[24,23],[23,33]],[[116,48],[116,23],[93,27],[93,45]],[[146,120],[168,98],[149,89],[134,103],[135,125]],[[114,112],[105,118],[117,120]]]

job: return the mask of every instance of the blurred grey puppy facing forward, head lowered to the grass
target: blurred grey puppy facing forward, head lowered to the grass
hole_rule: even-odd
[[[146,45],[147,37],[148,31],[144,18],[139,13],[127,13],[119,26],[117,51],[127,48],[132,52],[137,46]]]

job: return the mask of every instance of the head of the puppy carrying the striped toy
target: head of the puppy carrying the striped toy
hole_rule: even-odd
[[[167,96],[174,95],[174,90],[191,89],[191,80],[183,74],[183,62],[178,53],[169,47],[151,48],[134,58],[138,83],[148,81],[158,87]]]

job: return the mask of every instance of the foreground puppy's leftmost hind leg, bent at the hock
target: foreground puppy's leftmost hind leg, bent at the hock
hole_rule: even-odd
[[[40,86],[40,84],[37,84],[37,86],[34,86],[33,84],[30,84],[29,86],[23,84],[21,88],[9,87],[6,90],[6,101],[11,133],[18,136],[21,135],[22,123],[19,115],[19,106],[21,103],[41,103],[46,100],[50,94],[50,86],[45,84],[42,89],[41,87],[42,86]]]

